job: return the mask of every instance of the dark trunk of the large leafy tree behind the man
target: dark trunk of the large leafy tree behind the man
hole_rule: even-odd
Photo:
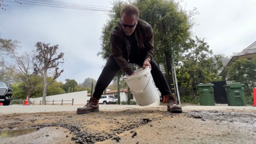
[[[168,51],[165,50],[165,59],[166,59],[166,66],[167,66],[167,72],[168,72],[168,80],[169,80],[169,87],[171,90],[172,94],[175,94],[175,89],[174,89],[174,83],[173,83],[173,74],[172,74],[172,63],[171,63],[171,58],[170,54]]]

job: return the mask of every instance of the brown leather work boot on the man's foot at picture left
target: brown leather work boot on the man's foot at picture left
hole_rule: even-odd
[[[98,112],[99,111],[99,100],[97,98],[90,98],[90,101],[87,105],[85,105],[83,108],[77,108],[76,113],[77,114],[86,114],[90,112]]]

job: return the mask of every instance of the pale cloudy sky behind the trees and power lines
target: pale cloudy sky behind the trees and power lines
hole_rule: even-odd
[[[109,0],[58,1],[111,7]],[[65,83],[69,78],[82,83],[87,77],[98,79],[105,64],[97,52],[107,12],[4,4],[8,7],[0,10],[1,38],[20,41],[22,51],[35,50],[36,42],[59,44],[57,53],[64,52],[65,62],[60,65],[64,72],[57,81]],[[214,54],[232,55],[256,41],[255,0],[183,0],[182,4],[200,12],[192,31],[205,38]]]

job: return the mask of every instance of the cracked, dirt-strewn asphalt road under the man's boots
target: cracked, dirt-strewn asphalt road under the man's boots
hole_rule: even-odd
[[[100,105],[100,112],[77,115],[80,106],[2,106],[0,131],[36,132],[2,137],[0,143],[255,143],[256,108]],[[48,135],[48,136],[46,136]]]

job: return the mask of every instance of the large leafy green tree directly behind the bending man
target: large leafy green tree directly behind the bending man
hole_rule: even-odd
[[[102,28],[101,50],[97,56],[107,60],[111,53],[110,34],[120,20],[120,11],[125,4],[134,4],[140,9],[140,19],[147,21],[154,31],[154,59],[156,62],[167,63],[167,74],[171,73],[171,56],[175,60],[188,49],[188,39],[194,25],[193,16],[196,9],[186,11],[178,2],[162,0],[133,0],[113,2],[112,11],[108,13],[108,20]],[[121,76],[119,76],[121,77]],[[168,75],[169,80],[172,75]]]

